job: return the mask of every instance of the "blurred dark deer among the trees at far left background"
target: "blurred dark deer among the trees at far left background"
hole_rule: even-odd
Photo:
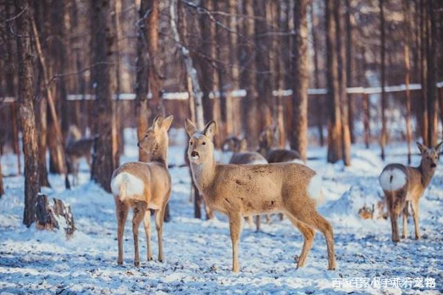
[[[80,171],[80,159],[85,158],[91,170],[91,149],[96,137],[82,137],[82,133],[77,126],[69,127],[66,138],[66,162],[73,175],[73,185],[78,185],[78,172]]]

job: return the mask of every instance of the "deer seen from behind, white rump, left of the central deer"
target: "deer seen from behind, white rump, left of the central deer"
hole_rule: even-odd
[[[138,226],[144,221],[147,242],[147,260],[152,260],[150,209],[155,211],[155,223],[159,240],[159,260],[163,261],[163,216],[171,196],[171,176],[168,171],[168,130],[172,119],[158,116],[138,142],[138,148],[149,155],[149,162],[128,162],[119,166],[111,178],[111,191],[116,201],[117,239],[119,265],[123,264],[123,233],[129,207],[134,212],[134,265],[140,265],[138,257]]]

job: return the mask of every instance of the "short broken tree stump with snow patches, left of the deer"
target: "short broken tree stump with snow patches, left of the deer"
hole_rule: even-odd
[[[39,193],[36,202],[36,222],[37,229],[55,231],[64,228],[66,236],[69,238],[75,231],[74,218],[71,206],[66,206],[60,199],[53,198],[54,204],[51,206],[48,196]]]

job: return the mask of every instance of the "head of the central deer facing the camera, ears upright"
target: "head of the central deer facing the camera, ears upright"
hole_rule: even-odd
[[[186,119],[186,131],[190,137],[188,158],[193,164],[201,164],[214,158],[213,139],[216,132],[214,121],[206,124],[203,131],[198,131],[197,127],[190,120]]]

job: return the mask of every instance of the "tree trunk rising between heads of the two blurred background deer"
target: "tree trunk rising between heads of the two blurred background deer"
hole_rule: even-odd
[[[244,0],[242,35],[246,40],[239,48],[239,62],[242,72],[240,73],[240,86],[246,90],[246,97],[242,101],[242,124],[248,146],[257,146],[258,140],[258,110],[257,110],[257,87],[255,79],[255,48],[252,45],[255,34],[253,0]]]

